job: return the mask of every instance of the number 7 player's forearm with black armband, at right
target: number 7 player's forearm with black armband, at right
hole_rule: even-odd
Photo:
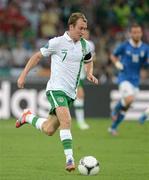
[[[91,53],[88,53],[84,58],[86,77],[90,82],[98,84],[98,79],[93,75],[93,61]]]

